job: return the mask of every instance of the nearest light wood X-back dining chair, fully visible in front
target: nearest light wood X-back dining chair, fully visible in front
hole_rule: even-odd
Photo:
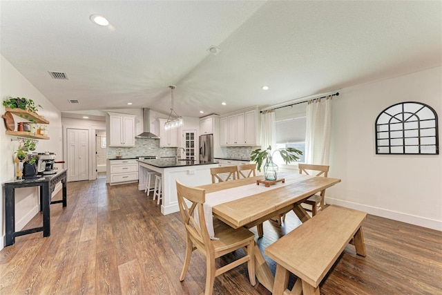
[[[178,205],[180,206],[180,213],[184,221],[187,236],[186,257],[184,258],[180,281],[182,282],[186,276],[193,250],[199,249],[201,253],[206,256],[206,286],[204,294],[212,294],[215,276],[224,274],[224,272],[246,262],[250,283],[251,285],[256,285],[254,256],[255,235],[244,227],[233,229],[224,222],[214,218],[213,229],[215,231],[215,237],[218,238],[218,240],[211,240],[206,227],[206,218],[204,218],[203,204],[206,199],[206,191],[197,187],[188,187],[182,184],[180,180],[176,180],[176,186]],[[186,200],[191,202],[190,207],[186,203]],[[195,211],[198,212],[198,214],[195,214]],[[216,269],[215,258],[224,256],[243,247],[246,247],[245,256]]]

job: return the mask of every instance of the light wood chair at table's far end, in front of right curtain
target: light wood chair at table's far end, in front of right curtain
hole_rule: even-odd
[[[314,165],[314,164],[298,164],[299,173],[314,176],[327,177],[330,166],[327,165]],[[318,211],[324,209],[325,189],[320,191],[319,194],[309,197],[301,204],[308,204],[310,207],[304,207],[305,211],[311,212],[311,216],[315,216]]]

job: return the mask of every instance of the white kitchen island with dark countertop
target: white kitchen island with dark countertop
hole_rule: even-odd
[[[155,171],[162,175],[163,200],[161,213],[163,215],[180,211],[177,200],[175,180],[186,185],[198,186],[211,183],[210,169],[218,167],[218,162],[200,162],[198,160],[181,160],[161,158],[154,160],[138,160],[139,182],[138,189],[146,187],[146,173]],[[153,181],[153,180],[152,180]],[[151,184],[153,185],[153,184]]]

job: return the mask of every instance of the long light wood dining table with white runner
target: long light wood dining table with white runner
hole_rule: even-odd
[[[268,187],[262,184],[263,175],[198,186],[206,191],[204,216],[209,234],[213,231],[211,216],[234,229],[251,228],[289,211],[294,211],[300,221],[305,222],[310,216],[302,208],[302,201],[340,182],[338,178],[298,173],[280,173],[280,178],[285,181]],[[256,277],[272,292],[274,276],[256,244],[254,252]]]

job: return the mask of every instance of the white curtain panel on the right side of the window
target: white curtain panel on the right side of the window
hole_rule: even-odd
[[[328,165],[332,127],[332,96],[309,101],[306,111],[305,163]]]

